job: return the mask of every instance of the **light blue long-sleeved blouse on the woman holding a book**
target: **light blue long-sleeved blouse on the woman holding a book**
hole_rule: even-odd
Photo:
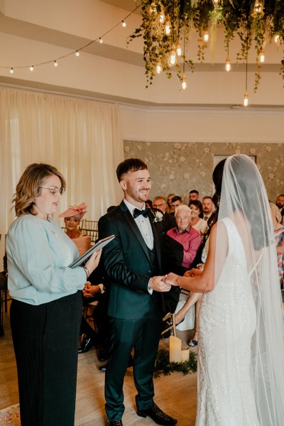
[[[10,226],[6,253],[9,293],[16,300],[41,305],[84,288],[84,269],[68,268],[79,251],[52,219],[21,214]]]

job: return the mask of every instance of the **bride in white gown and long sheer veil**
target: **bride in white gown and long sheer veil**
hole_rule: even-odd
[[[196,426],[280,426],[284,327],[266,189],[242,154],[219,163],[213,181],[219,216],[204,271],[167,278],[204,293]]]

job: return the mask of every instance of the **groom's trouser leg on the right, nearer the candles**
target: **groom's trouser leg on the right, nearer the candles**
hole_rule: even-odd
[[[162,325],[160,317],[146,318],[134,344],[133,376],[138,391],[136,395],[138,410],[147,410],[153,405],[153,371]]]

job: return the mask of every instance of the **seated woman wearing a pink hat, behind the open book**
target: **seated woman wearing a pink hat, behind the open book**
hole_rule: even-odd
[[[80,221],[87,212],[86,208],[86,204],[82,202],[82,204],[78,206],[68,207],[65,212],[59,215],[59,217],[64,217],[66,227],[65,233],[77,246],[80,256],[91,247],[91,237],[83,234],[79,229]]]

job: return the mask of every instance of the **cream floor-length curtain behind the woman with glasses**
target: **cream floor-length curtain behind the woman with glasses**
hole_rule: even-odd
[[[123,141],[115,104],[0,87],[0,150],[2,236],[14,217],[16,183],[31,163],[55,165],[64,175],[58,214],[85,202],[85,218],[97,220],[121,200],[115,171]]]

